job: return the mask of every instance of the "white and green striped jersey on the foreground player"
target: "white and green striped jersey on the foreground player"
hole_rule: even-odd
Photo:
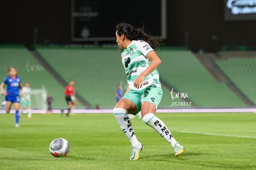
[[[133,40],[132,43],[122,51],[122,64],[126,70],[127,83],[132,90],[142,90],[150,85],[156,85],[156,87],[161,88],[157,69],[153,70],[153,72],[145,77],[141,88],[138,89],[134,87],[134,80],[137,79],[151,63],[147,58],[147,54],[150,51],[153,51],[153,48],[142,40]]]

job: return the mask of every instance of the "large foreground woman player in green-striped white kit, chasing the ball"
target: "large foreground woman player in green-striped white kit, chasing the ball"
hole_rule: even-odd
[[[135,115],[140,109],[143,122],[171,144],[175,156],[181,156],[185,148],[174,139],[164,122],[155,116],[157,105],[163,95],[157,70],[161,60],[153,50],[159,46],[159,40],[152,40],[143,30],[134,28],[129,23],[119,23],[116,26],[116,43],[122,50],[122,64],[129,88],[116,104],[114,116],[132,145],[130,160],[139,159],[143,145],[137,140],[127,114]]]

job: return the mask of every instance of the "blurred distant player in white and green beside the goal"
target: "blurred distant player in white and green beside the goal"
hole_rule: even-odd
[[[28,82],[25,83],[25,87],[23,87],[23,93],[22,93],[22,99],[20,101],[22,111],[27,109],[28,113],[28,119],[32,119],[32,111],[31,111],[31,101],[30,101],[30,94],[31,94],[31,88]]]

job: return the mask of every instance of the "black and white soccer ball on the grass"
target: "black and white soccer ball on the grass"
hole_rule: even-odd
[[[69,142],[64,138],[56,138],[50,143],[49,151],[54,157],[65,157],[69,154]]]

